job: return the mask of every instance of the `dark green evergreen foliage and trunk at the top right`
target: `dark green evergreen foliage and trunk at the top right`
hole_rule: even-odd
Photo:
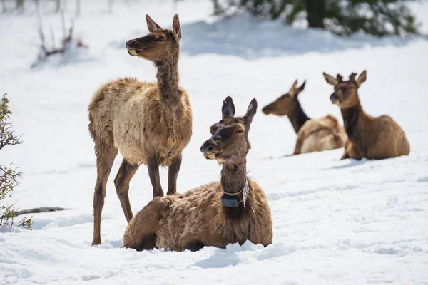
[[[218,0],[213,1],[217,13],[240,7],[265,19],[283,17],[287,24],[302,15],[306,16],[309,26],[325,28],[339,35],[357,31],[374,36],[417,33],[414,16],[404,1],[399,0],[230,0],[228,6],[223,7]]]

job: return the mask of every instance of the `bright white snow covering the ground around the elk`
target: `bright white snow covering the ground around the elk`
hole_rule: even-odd
[[[421,38],[337,38],[242,15],[217,21],[210,1],[131,1],[106,12],[107,1],[82,1],[76,33],[90,46],[61,61],[30,69],[39,40],[37,17],[0,14],[0,93],[8,93],[24,144],[1,153],[24,177],[14,198],[21,209],[71,210],[34,214],[34,230],[0,233],[0,284],[427,284],[428,280],[428,41]],[[67,19],[73,14],[68,1]],[[428,4],[413,4],[428,19]],[[59,23],[44,7],[44,28]],[[200,252],[121,249],[126,219],[113,177],[103,209],[103,244],[91,247],[96,167],[86,107],[110,78],[154,80],[155,68],[128,56],[125,41],[146,35],[150,14],[170,27],[175,11],[183,29],[181,84],[193,106],[193,139],[183,152],[178,191],[219,179],[201,142],[232,95],[243,114],[251,98],[261,107],[307,79],[300,95],[312,118],[340,110],[322,71],[347,76],[367,69],[360,88],[371,115],[391,115],[407,133],[409,157],[339,161],[342,150],[287,157],[295,133],[286,118],[255,116],[248,155],[250,176],[262,185],[274,220],[269,247],[249,242]],[[427,31],[427,26],[422,26]],[[60,28],[54,32],[61,33]],[[56,36],[58,38],[58,36]],[[161,179],[166,185],[166,170]],[[165,186],[164,186],[165,187]],[[151,199],[146,167],[131,182],[137,212]],[[4,229],[3,229],[4,231]]]

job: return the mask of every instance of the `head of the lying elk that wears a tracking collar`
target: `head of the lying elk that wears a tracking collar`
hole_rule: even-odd
[[[219,163],[239,162],[245,160],[250,150],[248,131],[257,110],[257,101],[251,100],[247,113],[243,117],[235,116],[235,105],[230,97],[223,101],[222,119],[211,125],[211,138],[200,147],[207,160]]]

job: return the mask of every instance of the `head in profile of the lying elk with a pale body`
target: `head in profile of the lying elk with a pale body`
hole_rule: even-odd
[[[269,105],[266,105],[265,108],[262,109],[262,112],[265,113],[265,115],[273,114],[273,115],[291,115],[293,110],[295,110],[298,102],[297,102],[297,95],[302,92],[303,89],[305,89],[305,83],[297,88],[297,80],[292,84],[290,91],[288,93],[285,93],[284,95],[281,95],[280,98],[277,98],[277,100],[273,101]]]

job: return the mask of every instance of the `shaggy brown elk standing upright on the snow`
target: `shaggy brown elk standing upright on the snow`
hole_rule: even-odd
[[[143,164],[153,186],[153,197],[163,196],[159,166],[168,166],[168,192],[177,192],[181,152],[192,136],[192,110],[187,93],[178,86],[181,29],[178,14],[173,30],[163,29],[146,15],[147,36],[126,42],[131,56],[153,61],[157,83],[121,78],[93,95],[88,107],[89,131],[95,143],[96,186],[93,195],[93,242],[101,244],[101,212],[106,183],[118,151],[123,156],[114,180],[127,222],[133,214],[129,183]]]

